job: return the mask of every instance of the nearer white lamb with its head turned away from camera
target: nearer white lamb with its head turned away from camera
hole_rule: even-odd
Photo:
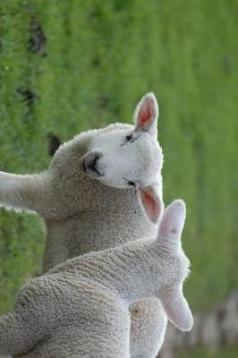
[[[165,210],[156,239],[141,239],[67,260],[21,288],[0,317],[0,354],[24,358],[129,358],[128,306],[157,297],[183,331],[192,315],[183,296],[189,260],[181,245],[185,205]]]

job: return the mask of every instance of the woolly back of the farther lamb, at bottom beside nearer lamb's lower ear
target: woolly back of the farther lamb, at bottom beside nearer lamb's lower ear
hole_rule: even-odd
[[[134,303],[131,311],[131,358],[155,358],[166,333],[166,313],[156,298]]]

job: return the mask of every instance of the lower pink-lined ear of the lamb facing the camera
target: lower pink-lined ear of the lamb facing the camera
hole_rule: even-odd
[[[164,203],[155,185],[138,188],[140,204],[149,220],[156,224],[164,210]]]

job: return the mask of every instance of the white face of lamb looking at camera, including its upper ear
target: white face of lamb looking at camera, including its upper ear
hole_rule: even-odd
[[[157,100],[149,93],[136,108],[135,126],[115,124],[96,136],[83,158],[87,175],[117,188],[155,183],[163,162],[157,143],[157,115]]]

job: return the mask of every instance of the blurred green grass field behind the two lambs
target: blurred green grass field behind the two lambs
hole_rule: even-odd
[[[164,199],[187,202],[185,290],[197,311],[238,287],[237,14],[235,0],[0,4],[0,169],[46,169],[48,132],[67,141],[130,123],[137,101],[153,90]],[[1,313],[39,272],[44,236],[38,217],[0,210]]]

